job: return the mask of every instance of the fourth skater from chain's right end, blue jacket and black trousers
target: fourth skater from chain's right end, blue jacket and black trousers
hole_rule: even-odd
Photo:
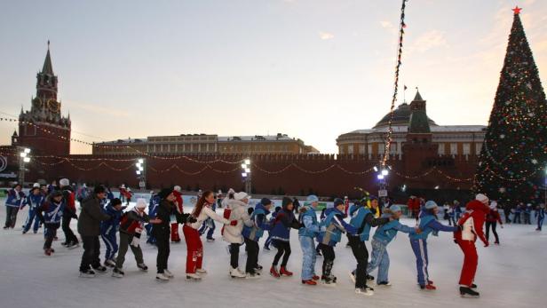
[[[355,282],[355,293],[372,296],[374,295],[374,289],[367,286],[367,265],[369,263],[369,250],[365,245],[365,241],[369,241],[370,228],[378,225],[385,225],[389,223],[390,218],[387,217],[375,217],[374,212],[378,207],[378,198],[376,196],[370,196],[370,208],[366,206],[359,207],[353,212],[350,225],[357,228],[356,235],[348,234],[347,239],[350,242],[352,248],[353,257],[357,261],[357,269],[350,272],[350,277]],[[374,278],[370,277],[370,280]]]

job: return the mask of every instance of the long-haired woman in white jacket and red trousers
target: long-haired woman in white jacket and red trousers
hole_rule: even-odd
[[[211,205],[214,201],[215,194],[213,192],[207,191],[203,193],[202,197],[195,203],[194,211],[188,218],[188,221],[182,227],[187,248],[186,279],[188,280],[201,280],[201,275],[207,273],[207,271],[202,268],[203,244],[200,233],[198,232],[203,221],[207,218],[211,218],[224,225],[237,225],[236,220],[230,222],[230,220],[218,216],[218,214],[211,209]]]

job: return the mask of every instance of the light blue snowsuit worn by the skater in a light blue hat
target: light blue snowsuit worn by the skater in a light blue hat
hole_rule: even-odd
[[[304,227],[298,230],[298,240],[302,249],[302,280],[311,280],[315,276],[315,261],[317,260],[317,251],[315,250],[315,237],[319,235],[321,227],[317,221],[315,209],[311,206],[305,206],[306,210],[300,214],[298,220]]]

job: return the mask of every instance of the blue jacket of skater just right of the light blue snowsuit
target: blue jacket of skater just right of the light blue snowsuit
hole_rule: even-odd
[[[337,242],[342,240],[343,232],[358,232],[358,228],[344,221],[345,213],[336,208],[325,210],[325,216],[325,219],[321,221],[321,225],[324,225],[325,228],[321,230],[317,239],[324,245],[336,246]]]

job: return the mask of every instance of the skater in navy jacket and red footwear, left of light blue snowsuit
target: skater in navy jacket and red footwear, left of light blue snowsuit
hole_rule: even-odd
[[[294,205],[289,197],[283,197],[282,207],[280,212],[275,217],[272,226],[272,243],[273,247],[277,249],[277,254],[273,257],[272,267],[270,268],[270,274],[275,278],[281,276],[292,276],[292,272],[287,270],[287,263],[290,257],[290,228],[299,229],[300,225],[295,217]],[[277,270],[277,264],[281,261],[281,268]]]

